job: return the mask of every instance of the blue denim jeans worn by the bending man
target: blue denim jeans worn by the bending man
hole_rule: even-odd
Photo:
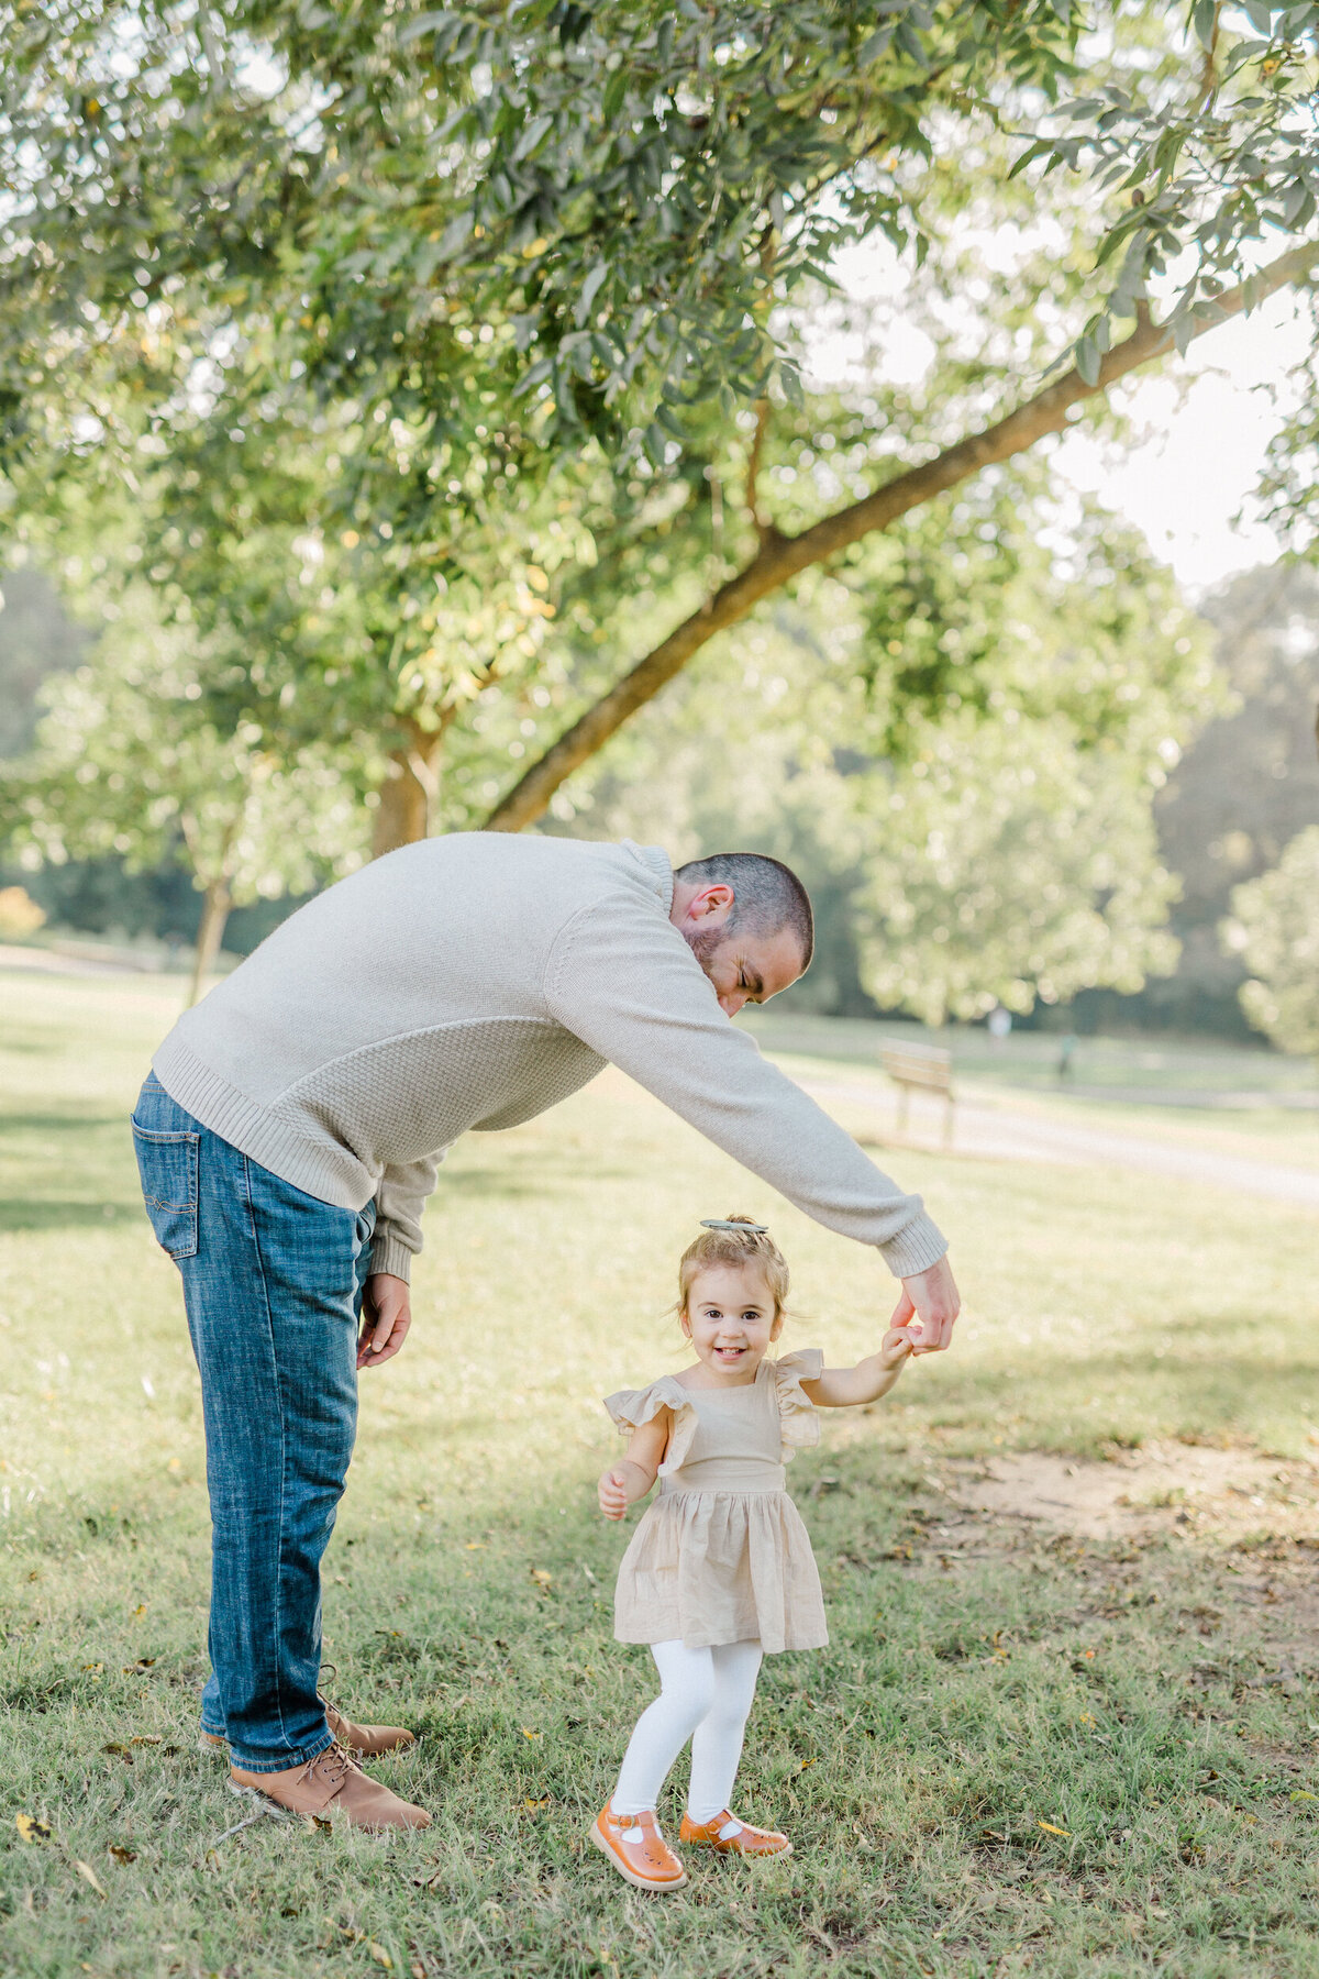
[[[176,1106],[152,1077],[132,1144],[182,1272],[212,1498],[202,1728],[277,1773],[332,1743],[318,1696],[320,1555],[358,1423],[356,1338],[376,1205],[336,1209]]]

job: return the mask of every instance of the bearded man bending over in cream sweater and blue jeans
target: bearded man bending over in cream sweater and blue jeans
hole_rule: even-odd
[[[320,1555],[356,1367],[403,1344],[421,1205],[467,1128],[530,1120],[611,1061],[874,1245],[902,1278],[896,1324],[918,1316],[925,1352],[947,1346],[957,1288],[920,1197],[728,1021],[787,990],[811,946],[811,902],[773,859],[674,875],[653,847],[465,833],[330,887],[166,1037],[132,1128],[202,1371],[202,1740],[239,1791],[370,1829],[429,1823],[356,1763],[411,1736],[318,1694]]]

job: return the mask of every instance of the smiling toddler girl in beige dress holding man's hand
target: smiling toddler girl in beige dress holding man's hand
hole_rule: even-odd
[[[920,1340],[894,1326],[856,1367],[825,1367],[819,1348],[769,1360],[783,1332],[787,1265],[763,1223],[704,1225],[678,1267],[678,1320],[694,1366],[609,1395],[631,1431],[627,1457],[599,1480],[605,1518],[623,1518],[655,1478],[660,1492],[619,1567],[615,1635],[649,1643],[659,1698],[631,1736],[613,1799],[591,1840],[641,1890],[680,1890],[682,1862],[655,1803],[692,1742],[692,1781],[678,1838],[720,1854],[791,1854],[785,1835],[728,1811],[763,1654],[829,1641],[807,1530],[783,1466],[819,1443],[817,1409],[886,1395]]]

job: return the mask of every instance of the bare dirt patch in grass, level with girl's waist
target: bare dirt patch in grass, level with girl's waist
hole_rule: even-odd
[[[965,1466],[949,1496],[967,1512],[1026,1518],[1084,1540],[1272,1536],[1319,1546],[1319,1466],[1250,1449],[1149,1443],[1111,1462],[1026,1451]]]

